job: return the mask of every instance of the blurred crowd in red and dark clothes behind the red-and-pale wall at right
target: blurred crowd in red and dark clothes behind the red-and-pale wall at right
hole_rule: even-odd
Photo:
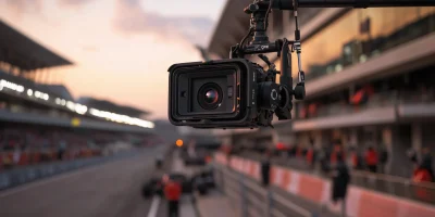
[[[223,152],[228,154],[244,153],[246,149],[236,146],[231,148],[223,145]],[[385,146],[374,148],[368,146],[364,150],[356,148],[345,149],[343,143],[337,140],[333,141],[332,145],[316,149],[313,141],[310,141],[308,148],[301,148],[298,145],[293,146],[279,146],[274,150],[266,149],[253,149],[257,153],[271,155],[272,159],[276,159],[273,156],[279,156],[283,153],[285,158],[299,158],[303,159],[303,164],[309,166],[311,169],[320,168],[320,170],[327,175],[332,168],[337,164],[337,156],[341,157],[344,162],[355,170],[365,170],[369,173],[387,174],[386,164],[389,161],[390,154]],[[433,156],[430,148],[423,148],[421,151],[410,150],[408,153],[408,161],[413,165],[412,180],[414,182],[434,182],[435,175],[433,168]],[[278,157],[283,158],[283,157]],[[407,161],[407,159],[405,159]]]

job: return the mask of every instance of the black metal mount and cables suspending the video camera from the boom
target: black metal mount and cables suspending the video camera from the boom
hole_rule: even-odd
[[[275,114],[279,120],[291,118],[293,103],[291,99],[303,100],[306,95],[304,88],[304,73],[301,66],[301,43],[300,43],[300,30],[298,25],[298,11],[297,1],[293,1],[293,10],[296,22],[295,28],[295,40],[290,41],[286,38],[277,39],[274,42],[269,41],[266,35],[269,25],[269,14],[272,10],[273,0],[254,0],[253,3],[245,8],[245,13],[251,15],[250,27],[248,34],[241,39],[240,43],[231,48],[229,59],[241,58],[244,59],[246,54],[257,54],[269,66],[266,71],[266,77],[272,77],[275,81],[276,74],[281,74],[279,78],[279,89],[282,94],[279,94],[281,106],[275,108]],[[245,46],[246,40],[252,37],[252,40]],[[281,58],[281,72],[276,71],[275,65],[271,63],[263,53],[276,52],[277,56]],[[293,77],[291,77],[291,53],[296,52],[298,58],[298,82],[293,88]],[[282,95],[286,95],[287,99],[283,99]],[[271,122],[273,114],[266,115],[265,122],[268,126],[272,126]]]

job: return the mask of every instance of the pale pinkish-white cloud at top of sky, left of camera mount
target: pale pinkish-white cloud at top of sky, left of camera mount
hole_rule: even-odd
[[[144,10],[139,0],[117,0],[113,25],[124,34],[156,33],[159,37],[182,37],[187,41],[206,46],[213,21],[208,17],[169,17]]]

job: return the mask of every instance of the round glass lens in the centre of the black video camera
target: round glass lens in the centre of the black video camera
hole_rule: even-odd
[[[204,110],[214,110],[222,102],[222,89],[217,84],[208,82],[198,91],[198,103]]]

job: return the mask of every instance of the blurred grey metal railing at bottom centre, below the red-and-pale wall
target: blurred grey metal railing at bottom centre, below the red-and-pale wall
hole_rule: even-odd
[[[215,167],[217,187],[226,194],[241,217],[314,217],[319,209],[309,210],[281,195],[271,188],[264,188],[243,174],[224,166]]]

